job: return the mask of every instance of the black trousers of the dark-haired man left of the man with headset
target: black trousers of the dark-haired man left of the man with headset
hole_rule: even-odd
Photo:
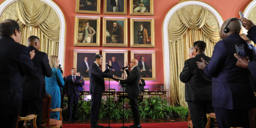
[[[207,124],[206,114],[213,113],[212,100],[188,101],[193,128],[204,128]],[[214,127],[214,119],[211,118],[210,128]]]

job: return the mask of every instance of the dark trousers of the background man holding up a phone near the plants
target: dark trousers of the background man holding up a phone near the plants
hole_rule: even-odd
[[[75,117],[77,112],[77,104],[79,100],[79,95],[76,96],[75,93],[72,93],[68,96],[68,115],[69,118]],[[73,111],[72,111],[72,105],[73,105]]]

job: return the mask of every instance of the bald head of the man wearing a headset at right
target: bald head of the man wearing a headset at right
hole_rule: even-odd
[[[232,20],[233,19],[233,20]],[[235,20],[234,20],[235,19]],[[231,21],[232,20],[232,21]],[[231,22],[230,22],[231,21]],[[229,23],[230,22],[230,23]],[[229,24],[228,24],[229,23]],[[227,26],[228,25],[228,26]],[[241,20],[235,17],[228,18],[222,25],[223,27],[227,26],[229,28],[229,32],[232,33],[240,33],[242,23]]]

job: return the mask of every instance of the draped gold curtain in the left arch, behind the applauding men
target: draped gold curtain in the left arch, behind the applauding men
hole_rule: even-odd
[[[39,0],[19,0],[3,11],[0,22],[4,19],[14,19],[19,23],[21,44],[27,46],[27,38],[35,35],[41,41],[40,51],[48,56],[58,55],[60,23],[51,6]]]

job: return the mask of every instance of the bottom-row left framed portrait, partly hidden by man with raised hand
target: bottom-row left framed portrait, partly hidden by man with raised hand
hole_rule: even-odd
[[[93,64],[95,55],[99,53],[100,50],[74,49],[73,67],[85,81],[89,81],[89,67]]]

